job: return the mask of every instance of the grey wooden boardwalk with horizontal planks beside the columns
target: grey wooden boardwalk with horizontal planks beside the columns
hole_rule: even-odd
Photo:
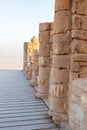
[[[0,130],[58,130],[20,70],[0,70]]]

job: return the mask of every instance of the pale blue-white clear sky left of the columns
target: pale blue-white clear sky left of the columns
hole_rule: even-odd
[[[53,20],[54,0],[0,0],[0,56],[21,56],[39,23]]]

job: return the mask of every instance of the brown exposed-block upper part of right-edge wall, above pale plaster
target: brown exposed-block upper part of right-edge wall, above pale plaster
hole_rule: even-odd
[[[72,1],[70,80],[87,77],[87,1]]]

